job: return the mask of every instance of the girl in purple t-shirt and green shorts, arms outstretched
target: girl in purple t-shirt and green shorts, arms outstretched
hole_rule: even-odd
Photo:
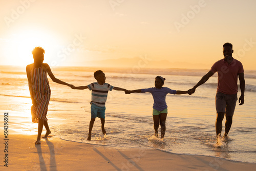
[[[154,129],[155,136],[158,137],[158,127],[159,122],[161,125],[161,138],[164,138],[165,134],[165,120],[167,116],[167,104],[165,101],[165,97],[168,93],[170,94],[187,94],[187,91],[179,91],[172,90],[167,87],[162,87],[164,84],[165,78],[161,76],[157,76],[155,78],[155,87],[148,89],[138,89],[138,90],[130,90],[125,91],[125,94],[130,93],[146,93],[149,92],[152,94],[154,99],[153,104],[153,120],[154,120]]]

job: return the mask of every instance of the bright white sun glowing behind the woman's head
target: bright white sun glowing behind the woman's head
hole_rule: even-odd
[[[42,47],[45,49],[45,61],[49,61],[54,48],[56,47],[56,39],[47,31],[27,30],[13,35],[11,40],[13,50],[9,49],[12,65],[27,66],[33,63],[32,50],[35,47]]]

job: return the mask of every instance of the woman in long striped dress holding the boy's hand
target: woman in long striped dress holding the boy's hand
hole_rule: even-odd
[[[38,133],[37,140],[35,144],[40,144],[40,137],[42,133],[42,127],[45,125],[46,135],[42,138],[47,138],[51,133],[48,122],[47,122],[47,111],[48,104],[51,97],[51,89],[49,86],[49,81],[47,78],[47,73],[54,82],[63,84],[69,87],[74,87],[71,84],[63,82],[53,75],[51,69],[47,63],[42,63],[44,61],[45,50],[41,47],[36,47],[32,51],[34,63],[27,66],[26,72],[29,82],[29,92],[32,100],[31,114],[32,122],[38,122]]]

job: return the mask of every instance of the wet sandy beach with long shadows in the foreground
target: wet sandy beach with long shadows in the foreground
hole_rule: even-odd
[[[41,139],[41,144],[35,145],[35,138],[35,135],[11,135],[8,167],[2,162],[1,170],[253,170],[256,166],[215,157],[177,155],[157,149],[78,143],[56,136]]]

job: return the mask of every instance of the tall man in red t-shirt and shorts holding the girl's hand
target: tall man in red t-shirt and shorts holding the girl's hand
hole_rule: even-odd
[[[243,65],[237,59],[232,57],[233,46],[230,43],[223,45],[224,59],[221,59],[211,67],[210,71],[202,77],[202,79],[194,86],[194,88],[188,90],[189,94],[193,94],[196,88],[205,83],[209,77],[218,72],[218,88],[216,94],[216,134],[217,138],[221,136],[222,131],[222,120],[226,114],[225,122],[225,133],[224,138],[230,130],[232,124],[232,117],[237,102],[238,93],[238,77],[240,81],[241,96],[239,98],[239,105],[244,104],[244,91],[245,91],[245,80],[244,80],[244,69]]]

